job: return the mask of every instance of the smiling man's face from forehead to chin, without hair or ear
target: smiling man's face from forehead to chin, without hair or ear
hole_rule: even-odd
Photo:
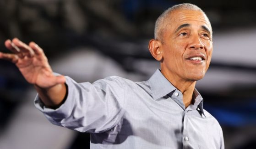
[[[201,11],[175,10],[163,32],[161,71],[176,81],[204,77],[212,57],[212,30]]]

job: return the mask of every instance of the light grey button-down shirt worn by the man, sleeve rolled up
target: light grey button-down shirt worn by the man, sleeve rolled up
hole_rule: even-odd
[[[224,149],[222,129],[202,107],[185,108],[182,93],[157,70],[144,82],[107,77],[93,84],[66,77],[60,108],[36,107],[51,123],[91,133],[91,149]]]

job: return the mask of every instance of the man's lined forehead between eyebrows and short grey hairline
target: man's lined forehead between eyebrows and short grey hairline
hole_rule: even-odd
[[[198,24],[204,25],[212,29],[207,16],[198,10],[174,10],[169,14],[170,24],[172,27],[177,28],[182,24]]]

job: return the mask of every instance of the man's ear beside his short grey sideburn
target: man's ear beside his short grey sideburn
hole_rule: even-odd
[[[157,40],[150,40],[148,44],[148,49],[151,55],[157,60],[161,61],[163,59],[163,52],[161,50],[162,43]]]

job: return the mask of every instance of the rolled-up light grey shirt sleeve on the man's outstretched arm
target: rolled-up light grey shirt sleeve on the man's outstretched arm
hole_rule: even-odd
[[[65,102],[57,109],[44,106],[35,98],[35,106],[53,124],[80,132],[99,133],[113,128],[124,114],[125,92],[119,77],[107,77],[94,83],[77,83],[66,78]]]

